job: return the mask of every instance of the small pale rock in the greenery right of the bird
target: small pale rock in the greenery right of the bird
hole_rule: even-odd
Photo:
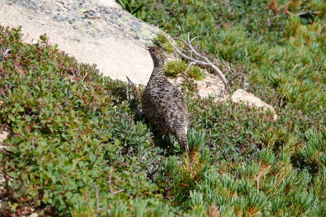
[[[273,119],[277,119],[277,114],[273,108],[273,106],[261,101],[259,98],[255,97],[255,95],[247,92],[244,89],[237,89],[233,92],[231,96],[231,100],[233,103],[244,102],[249,107],[263,107],[264,110],[270,109],[273,112]]]

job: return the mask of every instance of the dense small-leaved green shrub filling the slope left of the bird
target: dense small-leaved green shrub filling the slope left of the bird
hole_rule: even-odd
[[[91,214],[117,199],[156,198],[157,185],[146,176],[162,150],[121,103],[125,84],[56,46],[24,44],[19,32],[0,30],[1,54],[9,48],[0,57],[0,120],[12,132],[0,152],[12,178],[8,214],[33,207]]]

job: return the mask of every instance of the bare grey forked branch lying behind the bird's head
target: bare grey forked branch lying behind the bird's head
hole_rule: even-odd
[[[155,33],[155,32],[154,32]],[[194,39],[192,39],[192,40],[190,40],[189,39],[189,35],[188,35],[188,41],[186,42],[185,40],[183,40],[183,39],[180,39],[180,38],[171,38],[171,39],[173,39],[173,40],[179,40],[179,41],[182,41],[186,46],[187,46],[187,48],[186,49],[181,49],[183,52],[186,52],[186,53],[191,53],[191,55],[186,55],[186,54],[184,54],[183,52],[181,52],[181,50],[180,50],[180,48],[179,48],[179,46],[177,46],[177,45],[175,45],[175,44],[173,44],[172,42],[171,42],[171,40],[168,38],[168,37],[166,37],[165,35],[162,35],[162,34],[160,34],[160,33],[155,33],[156,35],[159,35],[159,36],[163,36],[170,44],[171,44],[171,46],[174,48],[174,50],[180,55],[180,56],[182,56],[183,58],[185,58],[185,59],[187,59],[187,60],[189,60],[189,61],[191,61],[193,64],[192,65],[199,65],[199,66],[203,66],[203,67],[209,67],[211,70],[213,70],[216,74],[218,74],[220,77],[221,77],[221,79],[222,79],[222,81],[224,82],[224,84],[226,85],[226,87],[228,87],[229,86],[229,84],[228,84],[228,81],[227,81],[227,79],[226,79],[226,77],[225,77],[225,75],[223,74],[223,72],[218,68],[218,67],[216,67],[214,64],[212,64],[211,63],[211,61],[209,61],[209,59],[206,57],[206,56],[203,56],[202,54],[200,54],[194,47],[193,47],[193,45],[192,45],[192,41],[194,40],[194,39],[196,39],[196,38],[194,38]],[[193,56],[196,56],[196,57],[198,57],[199,59],[202,59],[202,60],[199,60],[199,59],[197,59],[197,58],[195,58],[195,57],[193,57]]]

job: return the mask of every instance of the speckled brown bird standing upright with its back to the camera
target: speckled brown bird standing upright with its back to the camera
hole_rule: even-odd
[[[188,151],[186,133],[188,109],[178,88],[164,75],[165,54],[159,47],[147,48],[154,69],[142,95],[145,116],[162,134],[175,136],[184,151]]]

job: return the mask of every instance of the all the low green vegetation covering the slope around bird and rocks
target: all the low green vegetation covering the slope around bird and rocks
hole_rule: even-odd
[[[211,9],[205,1],[179,2],[146,5],[156,11],[152,22],[166,19],[166,11],[175,7],[169,12],[170,24],[185,28],[188,22],[186,30],[191,33],[198,17],[183,22],[180,13],[187,12],[179,10],[183,4],[193,7],[189,10],[197,16]],[[295,10],[310,9],[305,4]],[[259,8],[264,13],[257,17],[265,20],[274,12],[258,7],[264,5],[258,1],[230,5],[221,6],[222,12],[232,13],[225,12],[229,21],[223,23],[221,18],[226,27],[216,33],[224,37],[216,44],[225,43],[225,56],[222,44],[216,51],[209,50],[213,47],[205,44],[212,42],[208,34],[197,46],[210,58],[229,61],[232,69],[245,73],[246,86],[263,100],[276,103],[280,98],[280,117],[274,121],[270,113],[229,101],[214,103],[211,98],[198,98],[192,88],[182,88],[191,121],[187,154],[176,142],[169,146],[144,117],[133,112],[141,87],[132,87],[129,102],[125,83],[101,76],[96,66],[77,63],[50,45],[46,36],[40,37],[39,44],[25,44],[19,28],[2,27],[0,127],[10,130],[4,141],[7,148],[0,152],[6,178],[0,192],[7,205],[3,214],[20,216],[33,210],[50,216],[326,216],[325,77],[321,73],[325,65],[318,61],[324,58],[324,23],[318,17],[322,14],[312,13],[317,24],[309,23],[311,18],[280,14],[275,19],[286,18],[280,25],[267,28],[257,22],[257,27],[249,17],[247,25],[240,26],[234,23],[245,24],[249,10]],[[289,6],[289,10],[294,9]],[[211,24],[208,16],[199,20]],[[304,36],[298,31],[282,41],[282,24],[289,20],[297,28],[307,28],[305,33],[316,40],[299,44],[296,40]],[[168,24],[162,27],[171,34]],[[251,43],[251,49],[243,46]],[[247,49],[247,61],[241,46]],[[305,51],[310,46],[315,53]],[[275,57],[277,49],[284,49],[285,60]],[[291,58],[292,49],[300,51],[300,59]],[[305,58],[310,66],[293,70],[293,61],[301,64]],[[237,75],[234,70],[227,76]],[[237,85],[231,84],[231,90]]]

